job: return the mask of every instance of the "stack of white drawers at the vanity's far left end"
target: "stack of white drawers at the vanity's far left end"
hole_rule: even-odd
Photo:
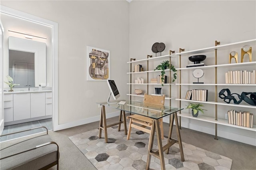
[[[4,122],[13,121],[13,94],[4,95]]]

